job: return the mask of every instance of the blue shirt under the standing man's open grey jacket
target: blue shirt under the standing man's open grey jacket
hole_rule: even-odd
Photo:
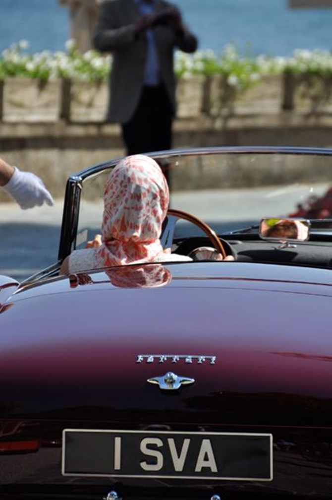
[[[135,0],[139,11],[142,15],[151,14],[155,11],[154,2],[146,2],[144,0]],[[159,74],[159,61],[156,47],[156,40],[154,37],[153,29],[146,30],[146,38],[148,42],[147,54],[146,54],[146,65],[145,65],[145,85],[158,85],[160,83]]]

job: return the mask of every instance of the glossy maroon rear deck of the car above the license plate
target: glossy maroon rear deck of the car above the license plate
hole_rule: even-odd
[[[331,277],[197,262],[25,285],[0,314],[2,414],[330,425]],[[195,383],[147,382],[169,372]]]

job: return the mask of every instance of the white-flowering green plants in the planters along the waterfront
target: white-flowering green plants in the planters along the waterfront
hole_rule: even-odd
[[[28,43],[21,40],[2,51],[0,79],[7,77],[34,78],[43,81],[71,78],[89,82],[105,81],[112,64],[111,56],[95,50],[81,54],[73,40],[64,51],[27,52]],[[259,81],[262,74],[281,74],[285,71],[316,76],[332,75],[332,54],[325,50],[295,50],[291,57],[253,56],[241,54],[232,44],[220,54],[198,50],[194,54],[176,52],[175,71],[179,78],[194,75],[220,74],[238,90],[245,90]]]

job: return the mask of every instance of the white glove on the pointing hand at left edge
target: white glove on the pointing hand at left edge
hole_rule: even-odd
[[[31,172],[22,172],[17,166],[14,168],[14,173],[2,187],[23,210],[33,206],[41,206],[44,201],[49,206],[54,204],[51,194],[37,175]]]

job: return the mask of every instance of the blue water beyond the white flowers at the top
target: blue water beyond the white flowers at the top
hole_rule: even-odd
[[[287,0],[173,0],[200,48],[234,42],[254,54],[291,55],[295,48],[332,49],[332,8],[290,9]],[[57,0],[0,0],[0,50],[19,39],[29,51],[63,50],[67,9]]]

